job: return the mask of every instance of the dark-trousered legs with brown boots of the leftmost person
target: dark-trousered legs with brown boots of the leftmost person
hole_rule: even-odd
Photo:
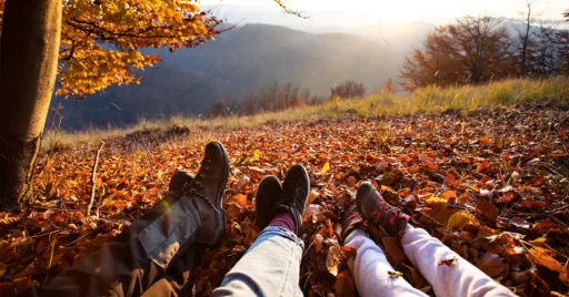
[[[221,198],[229,163],[223,146],[208,144],[197,176],[191,180],[182,175],[186,174],[172,177],[167,197],[129,229],[46,286],[33,287],[28,295],[139,296],[177,267],[179,260],[188,260],[192,256],[186,254],[189,248],[194,250],[196,244],[216,245],[224,232]],[[167,283],[174,281],[177,285],[170,288],[177,290],[188,279],[181,276]]]

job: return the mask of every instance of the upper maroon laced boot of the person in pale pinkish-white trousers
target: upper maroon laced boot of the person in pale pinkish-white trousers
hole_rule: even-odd
[[[356,204],[361,217],[370,226],[382,228],[389,236],[397,237],[409,222],[409,216],[389,205],[369,182],[358,188]]]

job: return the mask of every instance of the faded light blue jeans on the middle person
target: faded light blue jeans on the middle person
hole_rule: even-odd
[[[305,243],[292,232],[276,226],[264,228],[213,296],[302,296],[302,249]]]

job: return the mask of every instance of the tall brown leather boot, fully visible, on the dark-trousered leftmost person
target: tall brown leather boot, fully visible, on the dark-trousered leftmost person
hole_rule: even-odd
[[[183,188],[201,219],[196,242],[208,246],[219,243],[226,228],[226,211],[221,208],[229,177],[229,157],[218,142],[206,145],[206,153],[196,177]]]

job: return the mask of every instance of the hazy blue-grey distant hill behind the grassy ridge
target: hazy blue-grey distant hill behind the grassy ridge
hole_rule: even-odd
[[[162,62],[141,73],[140,85],[112,86],[81,101],[64,101],[64,129],[126,125],[139,117],[203,114],[218,101],[238,100],[272,81],[327,95],[345,80],[372,91],[397,79],[408,53],[347,33],[307,33],[246,24],[192,50],[159,53]],[[53,104],[61,102],[53,100]]]

